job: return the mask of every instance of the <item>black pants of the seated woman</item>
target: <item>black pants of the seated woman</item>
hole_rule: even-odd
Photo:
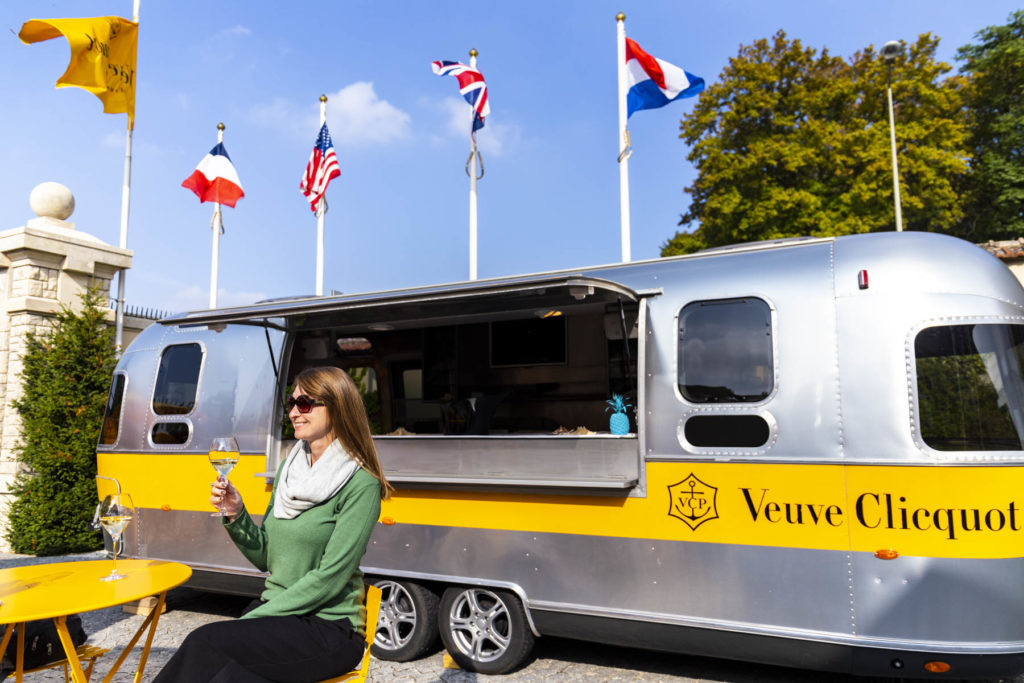
[[[215,622],[188,634],[154,683],[312,683],[354,669],[365,645],[348,620]]]

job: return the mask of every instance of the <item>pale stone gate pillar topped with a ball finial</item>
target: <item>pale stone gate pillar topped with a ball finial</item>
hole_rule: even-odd
[[[37,217],[0,232],[0,530],[6,530],[8,485],[17,473],[20,418],[11,402],[22,395],[20,373],[29,333],[44,334],[60,306],[77,309],[79,295],[97,287],[110,297],[115,273],[132,253],[75,229],[71,190],[44,182],[32,190]],[[110,311],[113,325],[114,311]],[[0,550],[8,549],[0,533]]]

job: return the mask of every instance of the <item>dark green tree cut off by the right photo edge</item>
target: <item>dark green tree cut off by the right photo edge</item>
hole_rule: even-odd
[[[957,232],[973,242],[1024,236],[1024,10],[956,53],[968,77],[971,173]]]

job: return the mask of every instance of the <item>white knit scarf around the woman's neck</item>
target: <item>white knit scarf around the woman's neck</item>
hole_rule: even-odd
[[[294,519],[303,510],[334,497],[359,464],[335,439],[315,463],[309,464],[309,444],[299,441],[288,454],[273,497],[273,516]]]

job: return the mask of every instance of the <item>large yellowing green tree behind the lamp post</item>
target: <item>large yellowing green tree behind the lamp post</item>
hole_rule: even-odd
[[[966,171],[958,76],[922,35],[893,66],[905,229],[961,218]],[[849,60],[779,31],[742,46],[681,123],[697,177],[663,255],[798,236],[893,229],[886,66],[873,48]]]

